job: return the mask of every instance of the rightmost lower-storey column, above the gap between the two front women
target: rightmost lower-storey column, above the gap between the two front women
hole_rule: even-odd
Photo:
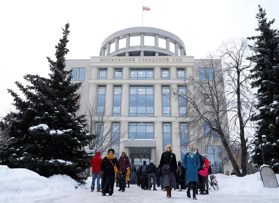
[[[180,133],[180,126],[178,121],[171,122],[171,151],[176,156],[176,161],[181,159],[181,148],[180,146],[180,136],[176,136]],[[181,159],[182,160],[182,159]]]

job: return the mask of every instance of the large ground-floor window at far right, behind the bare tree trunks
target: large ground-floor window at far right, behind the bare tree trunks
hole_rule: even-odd
[[[222,147],[206,146],[205,153],[208,155],[208,161],[211,162],[213,173],[224,173]],[[215,165],[216,161],[216,165]]]

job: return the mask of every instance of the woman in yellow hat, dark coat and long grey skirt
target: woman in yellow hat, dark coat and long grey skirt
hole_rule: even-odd
[[[160,159],[160,167],[165,164],[169,164],[169,173],[163,174],[163,182],[167,190],[167,197],[171,197],[171,188],[176,188],[175,173],[177,173],[176,157],[171,152],[171,145],[166,146],[166,151],[162,153]],[[162,172],[162,168],[159,171]]]

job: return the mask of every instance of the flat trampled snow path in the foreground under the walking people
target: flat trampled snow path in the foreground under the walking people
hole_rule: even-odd
[[[61,194],[61,196],[45,198],[45,199],[25,199],[23,202],[28,203],[92,203],[92,202],[102,202],[102,203],[128,203],[128,202],[175,202],[175,203],[185,203],[185,202],[202,202],[202,203],[217,203],[217,202],[279,202],[279,198],[274,199],[274,196],[268,195],[258,195],[251,194],[249,192],[243,192],[241,194],[224,194],[220,190],[209,191],[209,195],[197,195],[197,200],[193,198],[186,197],[186,190],[179,192],[178,190],[172,190],[172,197],[167,198],[166,192],[159,190],[142,190],[136,185],[130,185],[130,188],[126,188],[125,192],[119,192],[114,188],[114,194],[112,196],[101,196],[100,192],[90,192],[89,189],[77,190],[76,192],[69,192],[68,194]],[[13,201],[11,201],[13,202]],[[8,202],[8,203],[11,203]]]

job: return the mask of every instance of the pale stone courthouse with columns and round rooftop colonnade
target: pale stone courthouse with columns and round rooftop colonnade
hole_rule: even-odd
[[[158,165],[166,145],[170,144],[177,160],[182,160],[191,134],[210,130],[205,127],[204,132],[188,132],[191,118],[187,117],[187,102],[171,93],[173,89],[186,93],[188,76],[205,80],[208,75],[214,80],[215,67],[199,67],[200,61],[186,55],[185,45],[176,35],[157,28],[133,27],[108,36],[101,44],[100,56],[66,60],[66,69],[73,69],[72,82],[83,82],[77,92],[82,113],[95,103],[97,114],[106,109],[113,121],[119,120],[103,126],[103,131],[110,125],[124,129],[125,135],[110,146],[116,157],[126,151],[132,166],[144,160],[148,164],[151,159]],[[198,147],[223,173],[220,142]]]

